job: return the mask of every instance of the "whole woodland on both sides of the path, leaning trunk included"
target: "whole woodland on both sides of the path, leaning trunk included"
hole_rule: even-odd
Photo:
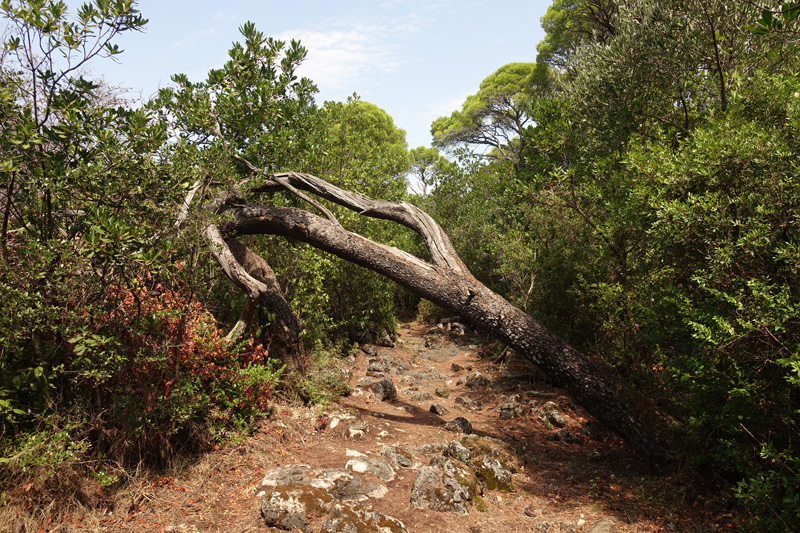
[[[169,464],[277,388],[329,402],[410,288],[728,484],[743,530],[797,529],[797,2],[555,0],[410,151],[252,23],[134,108],[87,68],[136,2],[0,12],[4,486]]]

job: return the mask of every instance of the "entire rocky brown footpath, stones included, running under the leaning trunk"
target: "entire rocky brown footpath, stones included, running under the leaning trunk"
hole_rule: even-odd
[[[718,531],[724,493],[655,477],[534,368],[401,327],[345,360],[353,393],[142,487],[98,530]],[[679,487],[674,490],[674,487]],[[730,529],[728,529],[730,531]]]

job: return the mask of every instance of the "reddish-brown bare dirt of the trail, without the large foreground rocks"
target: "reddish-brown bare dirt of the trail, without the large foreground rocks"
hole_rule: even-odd
[[[409,494],[426,460],[418,455],[415,466],[398,469],[386,483],[388,493],[368,505],[412,533],[731,531],[728,502],[712,485],[650,474],[619,439],[582,433],[589,418],[535,369],[516,361],[493,366],[492,357],[481,357],[487,351],[478,339],[425,335],[427,329],[404,324],[394,348],[367,347],[373,355],[360,351],[345,360],[354,392],[338,405],[324,411],[278,407],[240,445],[140,487],[133,502],[99,522],[74,525],[86,531],[280,531],[267,527],[259,512],[267,471],[291,464],[344,468],[358,454],[379,457],[384,445],[447,444],[461,435],[444,429],[445,423],[463,417],[473,433],[511,451],[514,492],[485,489],[482,509],[466,516],[417,509]],[[389,375],[396,399],[380,401],[373,393],[382,377],[367,374],[376,374],[381,361],[394,361]],[[475,381],[475,372],[487,380]],[[527,413],[501,416],[513,394]],[[430,411],[434,402],[444,408],[442,415]],[[563,429],[545,420],[553,404]],[[348,416],[366,423],[363,435],[349,430],[343,422]],[[552,440],[557,434],[567,440]]]

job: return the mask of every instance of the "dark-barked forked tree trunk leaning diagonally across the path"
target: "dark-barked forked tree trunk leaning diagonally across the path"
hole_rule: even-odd
[[[458,258],[447,235],[430,216],[405,202],[382,202],[344,191],[307,174],[268,175],[255,192],[292,188],[312,192],[374,218],[392,220],[418,232],[431,262],[345,230],[326,209],[326,218],[308,211],[270,205],[232,204],[233,221],[223,235],[283,235],[368,268],[456,313],[494,335],[538,365],[641,455],[660,460],[663,443],[637,416],[622,382],[551,333],[532,317],[475,279]]]

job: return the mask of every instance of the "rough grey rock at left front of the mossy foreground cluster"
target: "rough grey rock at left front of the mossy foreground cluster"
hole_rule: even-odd
[[[472,472],[439,455],[430,466],[420,468],[411,488],[411,505],[466,515],[477,490],[477,479]]]

